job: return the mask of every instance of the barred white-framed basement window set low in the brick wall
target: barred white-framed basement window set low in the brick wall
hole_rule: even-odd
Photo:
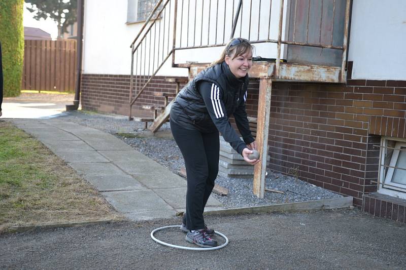
[[[380,187],[406,192],[406,141],[383,138],[381,145]]]

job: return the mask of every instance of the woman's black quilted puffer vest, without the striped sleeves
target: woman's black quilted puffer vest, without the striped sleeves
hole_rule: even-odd
[[[248,75],[243,79],[236,79],[225,62],[208,67],[199,72],[179,93],[175,103],[193,122],[193,125],[202,131],[216,129],[206,104],[197,89],[198,82],[208,81],[217,85],[223,91],[222,101],[230,117],[235,109],[244,102],[244,94],[248,88]]]

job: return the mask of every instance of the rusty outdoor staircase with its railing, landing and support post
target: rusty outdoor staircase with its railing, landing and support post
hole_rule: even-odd
[[[131,43],[129,120],[137,119],[132,106],[167,61],[172,59],[171,67],[187,68],[191,79],[214,60],[205,50],[244,37],[261,54],[270,54],[253,62],[249,72],[260,82],[256,138],[263,156],[273,82],[346,82],[349,14],[350,0],[159,0]],[[176,63],[175,54],[182,52],[188,61]],[[141,119],[146,128],[152,122],[153,132],[168,121],[180,84],[187,79],[175,76],[168,81],[176,84],[175,93],[154,93],[163,98],[163,106],[142,105],[153,112],[153,117]],[[259,198],[264,196],[265,169],[266,159],[255,166],[253,192]]]

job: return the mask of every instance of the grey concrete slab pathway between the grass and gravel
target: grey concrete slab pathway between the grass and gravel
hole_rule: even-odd
[[[185,211],[186,180],[115,136],[58,119],[13,119],[92,183],[130,220]],[[224,209],[210,198],[206,211]]]

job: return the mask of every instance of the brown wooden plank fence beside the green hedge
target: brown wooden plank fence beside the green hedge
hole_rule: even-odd
[[[74,91],[75,74],[75,40],[24,42],[21,89]]]

